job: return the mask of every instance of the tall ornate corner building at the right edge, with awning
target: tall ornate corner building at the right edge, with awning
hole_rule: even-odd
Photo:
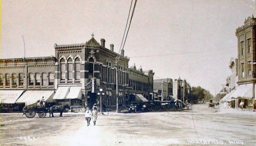
[[[242,100],[245,108],[255,109],[255,18],[254,16],[245,19],[242,27],[236,29],[237,51],[238,51],[238,87],[235,98],[237,104]]]

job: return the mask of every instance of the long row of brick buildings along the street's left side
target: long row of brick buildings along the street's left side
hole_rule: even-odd
[[[135,65],[129,68],[129,58],[98,43],[94,35],[82,44],[54,45],[55,57],[0,59],[1,112],[21,111],[24,106],[44,96],[49,105],[105,105],[115,109],[132,101],[154,101],[188,98],[189,84],[180,78],[161,81],[154,92],[153,70],[147,72]],[[100,93],[100,89],[104,95]],[[158,94],[159,93],[159,94]]]

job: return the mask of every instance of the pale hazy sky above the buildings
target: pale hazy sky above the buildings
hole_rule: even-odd
[[[133,0],[134,3],[135,0]],[[54,56],[54,44],[94,38],[118,52],[131,0],[2,0],[1,58]],[[255,16],[253,0],[138,0],[124,46],[129,65],[155,79],[181,77],[213,95],[237,58],[236,28]],[[25,48],[24,51],[24,41]],[[24,52],[26,52],[24,54]]]

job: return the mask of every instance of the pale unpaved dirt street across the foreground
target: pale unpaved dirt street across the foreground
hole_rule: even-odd
[[[1,114],[1,145],[255,145],[255,112],[218,111],[104,113],[96,126],[83,113]]]

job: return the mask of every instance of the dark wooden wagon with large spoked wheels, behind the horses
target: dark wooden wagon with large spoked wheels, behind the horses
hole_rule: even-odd
[[[45,117],[46,113],[48,112],[48,109],[44,107],[40,107],[39,102],[36,102],[34,104],[25,106],[23,108],[23,114],[26,115],[27,118],[33,118],[37,113],[40,118]]]

